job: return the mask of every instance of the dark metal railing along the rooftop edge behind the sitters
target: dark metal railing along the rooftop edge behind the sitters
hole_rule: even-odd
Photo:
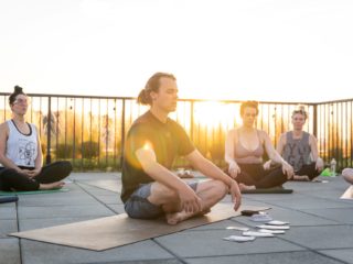
[[[9,94],[0,92],[0,122],[11,118]],[[29,95],[26,119],[38,127],[46,163],[69,160],[76,170],[120,169],[127,131],[148,108],[128,97]],[[325,163],[352,166],[353,99],[300,103],[309,112],[304,130],[318,138]],[[259,102],[257,127],[276,145],[291,129],[291,112],[298,102]],[[171,118],[183,125],[195,146],[218,166],[224,166],[224,142],[228,130],[240,125],[240,101],[181,99]],[[175,166],[188,166],[179,158]]]

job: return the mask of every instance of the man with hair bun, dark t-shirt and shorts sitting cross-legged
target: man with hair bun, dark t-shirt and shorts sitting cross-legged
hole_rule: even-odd
[[[138,102],[150,109],[132,123],[125,145],[121,199],[131,218],[165,217],[169,224],[176,224],[208,212],[227,193],[234,209],[240,206],[237,183],[203,157],[184,129],[168,118],[176,101],[175,77],[165,73],[151,76],[138,96]],[[186,184],[171,172],[179,155],[212,179]]]

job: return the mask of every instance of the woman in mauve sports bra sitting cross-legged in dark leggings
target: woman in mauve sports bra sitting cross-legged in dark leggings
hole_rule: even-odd
[[[256,101],[243,102],[243,125],[231,130],[225,143],[227,173],[242,190],[281,186],[293,175],[293,168],[276,152],[268,134],[254,127],[257,114]],[[266,170],[263,166],[265,151],[281,167]]]

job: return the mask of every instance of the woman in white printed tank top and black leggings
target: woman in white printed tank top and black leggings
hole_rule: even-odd
[[[38,190],[63,187],[69,162],[42,167],[41,141],[34,124],[25,122],[29,98],[15,86],[9,98],[12,119],[0,124],[0,190]]]

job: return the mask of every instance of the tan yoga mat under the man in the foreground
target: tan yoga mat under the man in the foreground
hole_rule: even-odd
[[[240,215],[240,210],[245,209],[267,210],[269,208],[244,206],[238,211],[234,211],[233,205],[218,204],[212,208],[210,213],[188,219],[175,226],[168,224],[164,219],[139,220],[128,218],[126,213],[121,213],[52,228],[11,233],[9,235],[93,251],[104,251],[237,217]]]

